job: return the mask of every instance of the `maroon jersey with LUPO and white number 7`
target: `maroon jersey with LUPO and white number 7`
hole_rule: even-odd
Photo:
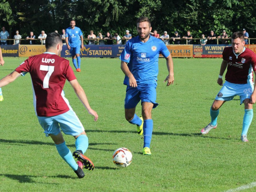
[[[76,79],[69,60],[49,52],[29,57],[15,69],[23,75],[29,72],[34,92],[34,107],[38,116],[49,117],[66,113],[68,100],[64,97],[66,82]]]

